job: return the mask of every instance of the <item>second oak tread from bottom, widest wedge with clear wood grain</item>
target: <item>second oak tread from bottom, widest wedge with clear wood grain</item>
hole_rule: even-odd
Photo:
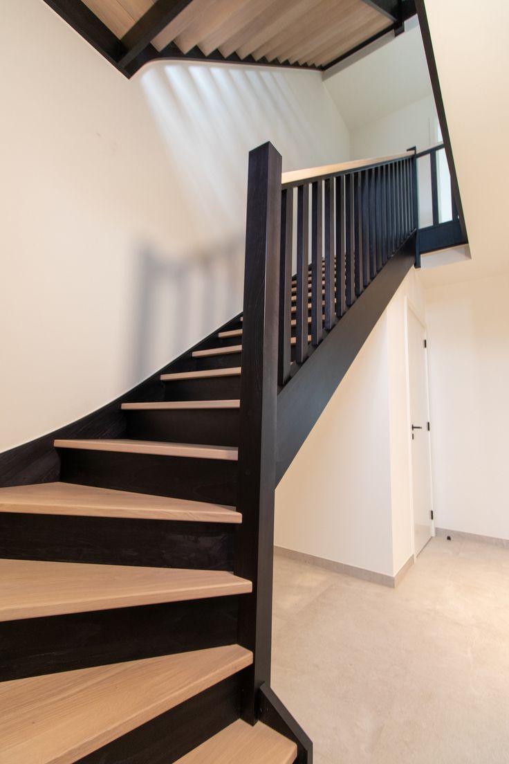
[[[238,645],[0,684],[0,764],[71,764],[246,668]]]

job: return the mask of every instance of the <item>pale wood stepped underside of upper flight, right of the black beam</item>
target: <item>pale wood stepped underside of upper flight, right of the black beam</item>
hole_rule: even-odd
[[[153,44],[322,66],[390,26],[363,0],[192,0]]]

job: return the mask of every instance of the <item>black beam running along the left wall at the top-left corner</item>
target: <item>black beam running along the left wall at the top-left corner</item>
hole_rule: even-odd
[[[45,0],[67,24],[76,29],[85,40],[95,47],[110,63],[118,69],[118,60],[123,55],[121,40],[103,24],[95,13],[82,0]]]

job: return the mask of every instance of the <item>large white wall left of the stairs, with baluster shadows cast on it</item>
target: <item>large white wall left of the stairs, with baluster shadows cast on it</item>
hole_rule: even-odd
[[[0,450],[117,397],[241,307],[248,151],[350,157],[319,73],[124,79],[42,0],[0,25]]]

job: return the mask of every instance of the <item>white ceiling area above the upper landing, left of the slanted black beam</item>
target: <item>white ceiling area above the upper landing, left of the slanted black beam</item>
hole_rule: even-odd
[[[409,26],[383,47],[324,78],[350,130],[432,95],[420,28]]]

